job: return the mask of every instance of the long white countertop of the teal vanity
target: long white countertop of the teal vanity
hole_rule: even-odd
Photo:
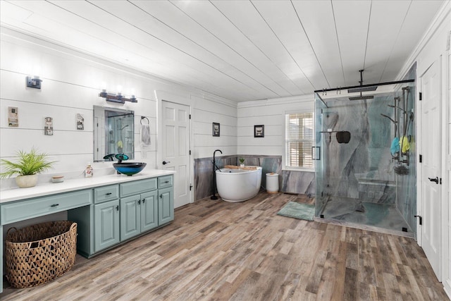
[[[56,195],[61,192],[70,192],[86,188],[94,188],[109,184],[118,184],[130,182],[132,180],[142,180],[146,178],[155,178],[159,176],[172,175],[175,171],[163,171],[160,169],[151,169],[142,171],[133,176],[125,175],[106,175],[93,176],[92,178],[77,178],[64,180],[62,183],[48,183],[37,185],[31,188],[13,188],[0,191],[0,204],[16,201],[18,199],[30,199],[31,197],[42,197],[44,195]]]

